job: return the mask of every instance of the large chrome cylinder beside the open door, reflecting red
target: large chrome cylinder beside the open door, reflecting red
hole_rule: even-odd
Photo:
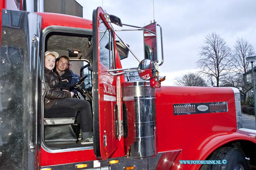
[[[152,157],[157,153],[155,89],[149,81],[125,82],[121,86],[127,156]]]

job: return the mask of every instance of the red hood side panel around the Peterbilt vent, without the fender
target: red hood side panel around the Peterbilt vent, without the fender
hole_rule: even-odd
[[[173,104],[228,102],[228,112],[173,115]],[[216,87],[162,87],[156,89],[158,151],[184,149],[213,131],[236,131],[234,92]],[[190,145],[191,146],[191,145]]]

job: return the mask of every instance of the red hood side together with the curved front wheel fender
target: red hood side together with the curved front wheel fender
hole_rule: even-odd
[[[179,159],[204,160],[215,149],[234,140],[256,143],[253,138],[236,133],[234,100],[234,92],[228,87],[163,86],[156,89],[158,152],[182,149]],[[228,112],[173,114],[173,104],[206,102],[228,102]],[[193,165],[195,169],[199,167]],[[173,168],[178,169],[178,166],[173,165]],[[180,165],[179,168],[191,169],[192,165]]]

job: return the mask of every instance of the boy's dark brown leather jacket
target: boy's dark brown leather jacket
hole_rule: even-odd
[[[44,68],[44,80],[46,84],[44,108],[52,107],[58,99],[71,97],[70,92],[61,91],[59,78],[52,70]]]

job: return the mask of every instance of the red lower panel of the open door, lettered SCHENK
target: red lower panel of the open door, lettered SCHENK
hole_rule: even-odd
[[[100,122],[100,155],[107,159],[118,147],[119,141],[115,131],[116,101],[107,101],[107,97],[116,99],[116,77],[107,75],[107,68],[99,62],[99,122]],[[115,88],[115,92],[108,89]],[[107,97],[106,97],[107,96]],[[104,99],[105,98],[105,99]],[[107,135],[107,146],[104,146],[103,136]]]

